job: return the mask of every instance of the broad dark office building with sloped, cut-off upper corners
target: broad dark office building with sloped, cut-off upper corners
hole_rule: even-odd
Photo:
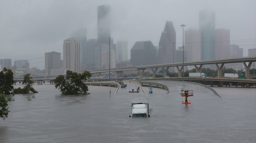
[[[156,49],[151,41],[137,41],[131,49],[133,66],[156,64]]]

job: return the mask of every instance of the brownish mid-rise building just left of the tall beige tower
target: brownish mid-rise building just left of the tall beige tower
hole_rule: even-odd
[[[53,75],[52,69],[60,69],[60,53],[56,51],[45,53],[45,74]]]

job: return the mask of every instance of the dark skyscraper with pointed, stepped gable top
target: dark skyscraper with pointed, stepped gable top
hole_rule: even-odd
[[[161,34],[158,51],[158,64],[173,63],[173,55],[176,51],[176,32],[171,21],[166,21],[165,29]]]

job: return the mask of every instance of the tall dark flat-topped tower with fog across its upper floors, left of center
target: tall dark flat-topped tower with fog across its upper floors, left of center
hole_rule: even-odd
[[[109,44],[111,37],[110,6],[98,6],[98,44]]]

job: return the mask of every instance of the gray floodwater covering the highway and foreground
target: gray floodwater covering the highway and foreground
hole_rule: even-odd
[[[34,85],[33,95],[14,95],[9,116],[0,120],[0,143],[255,143],[256,89],[208,89],[188,83],[156,81],[166,90],[137,84],[89,86],[89,95],[60,95],[54,85]],[[15,86],[16,88],[18,85]],[[182,105],[180,88],[194,90]],[[111,95],[109,95],[111,91]],[[31,100],[28,100],[30,96]],[[147,97],[150,118],[130,118],[135,97]]]

